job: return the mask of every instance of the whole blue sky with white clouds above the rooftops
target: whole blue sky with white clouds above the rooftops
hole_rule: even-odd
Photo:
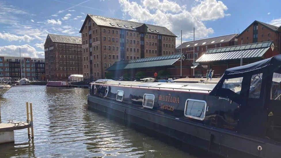
[[[44,58],[48,35],[79,36],[87,14],[165,26],[183,42],[281,25],[280,0],[0,0],[0,55]]]

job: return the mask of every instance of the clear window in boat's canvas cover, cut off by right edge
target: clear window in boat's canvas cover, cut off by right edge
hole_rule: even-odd
[[[273,73],[270,99],[281,100],[281,74],[280,73]]]

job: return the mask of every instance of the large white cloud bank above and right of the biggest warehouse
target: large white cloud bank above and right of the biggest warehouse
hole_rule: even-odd
[[[153,0],[153,2],[154,1],[155,0]],[[143,3],[144,2],[147,4],[150,3],[149,1],[143,1]],[[165,2],[169,2],[170,4],[175,3],[168,0],[165,0]],[[147,4],[140,5],[137,2],[130,2],[128,0],[119,0],[119,3],[121,4],[124,16],[128,14],[131,17],[130,20],[152,22],[155,25],[165,26],[175,35],[178,35],[181,30],[183,30],[183,34],[190,34],[189,32],[193,31],[193,27],[195,27],[195,37],[197,39],[207,37],[209,34],[214,33],[212,28],[207,28],[198,17],[187,11],[185,6],[180,7],[180,12],[177,12],[177,9],[170,9],[170,12],[164,12],[164,4],[153,6],[151,7],[153,9],[150,10],[148,7],[145,7]],[[179,7],[176,6],[174,8]],[[215,8],[212,9],[215,10]]]

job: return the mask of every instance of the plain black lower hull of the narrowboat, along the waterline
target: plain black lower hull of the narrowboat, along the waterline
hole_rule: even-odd
[[[249,137],[234,131],[162,115],[88,94],[88,107],[106,112],[187,144],[225,157],[279,157],[280,144],[266,138]],[[262,147],[262,149],[258,149]]]

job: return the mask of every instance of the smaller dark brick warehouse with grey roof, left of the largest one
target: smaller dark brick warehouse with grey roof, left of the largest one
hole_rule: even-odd
[[[50,80],[66,80],[82,74],[81,37],[48,34],[45,48],[45,71]]]

